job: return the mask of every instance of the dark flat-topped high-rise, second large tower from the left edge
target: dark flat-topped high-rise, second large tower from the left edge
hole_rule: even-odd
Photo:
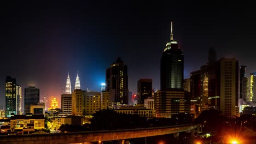
[[[29,86],[24,89],[24,110],[25,113],[30,113],[31,104],[40,102],[40,90],[34,86]]]

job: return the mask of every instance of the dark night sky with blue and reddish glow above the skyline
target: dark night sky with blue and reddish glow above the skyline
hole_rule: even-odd
[[[0,105],[5,76],[22,86],[40,88],[40,96],[60,100],[67,73],[74,89],[79,72],[82,89],[100,91],[105,70],[117,57],[129,70],[129,90],[137,80],[153,79],[160,88],[160,58],[170,39],[184,53],[184,78],[207,62],[215,47],[217,58],[236,57],[256,71],[256,19],[250,3],[218,1],[70,1],[1,4]]]

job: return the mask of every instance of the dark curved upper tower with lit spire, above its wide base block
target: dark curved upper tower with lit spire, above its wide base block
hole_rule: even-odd
[[[161,90],[167,90],[170,88],[183,89],[183,60],[183,52],[181,49],[179,49],[177,41],[173,40],[171,22],[171,39],[166,44],[166,47],[161,57]]]

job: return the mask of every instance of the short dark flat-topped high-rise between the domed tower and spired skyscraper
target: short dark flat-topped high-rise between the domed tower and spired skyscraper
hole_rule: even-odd
[[[137,82],[138,104],[144,104],[144,99],[152,97],[152,79],[139,79]]]

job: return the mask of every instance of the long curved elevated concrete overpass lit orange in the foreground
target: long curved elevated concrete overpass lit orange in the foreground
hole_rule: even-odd
[[[111,141],[125,139],[134,139],[138,137],[148,137],[157,135],[174,134],[178,136],[180,132],[190,131],[201,133],[200,124],[182,124],[170,125],[165,127],[148,127],[135,129],[116,129],[116,130],[99,130],[99,131],[83,131],[74,133],[56,133],[56,134],[31,134],[31,135],[8,135],[0,136],[0,143],[19,144],[19,143],[90,143],[98,141]]]

